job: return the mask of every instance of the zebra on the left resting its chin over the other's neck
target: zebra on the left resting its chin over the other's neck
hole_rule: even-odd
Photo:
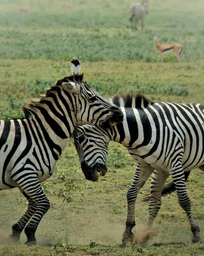
[[[118,107],[83,82],[76,57],[71,70],[42,99],[22,106],[25,118],[0,121],[0,190],[18,187],[29,202],[11,235],[18,241],[24,229],[26,245],[36,244],[35,231],[50,207],[40,182],[53,174],[75,126],[122,121]]]

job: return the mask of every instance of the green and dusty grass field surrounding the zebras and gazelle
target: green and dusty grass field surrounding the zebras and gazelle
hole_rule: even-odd
[[[63,4],[70,4],[63,7]],[[143,31],[131,30],[132,0],[26,1],[0,0],[0,118],[22,116],[20,106],[38,98],[57,79],[70,74],[77,56],[84,80],[108,99],[116,93],[140,92],[153,101],[204,104],[203,0],[149,0]],[[21,7],[28,12],[19,12]],[[184,46],[184,62],[160,55],[160,43]],[[89,182],[81,171],[71,139],[56,172],[43,182],[51,208],[36,232],[38,245],[11,244],[11,225],[26,209],[18,189],[0,193],[0,255],[204,255],[204,245],[191,243],[191,231],[176,193],[162,199],[154,222],[156,236],[147,247],[124,247],[122,234],[127,214],[126,192],[136,163],[120,144],[110,143],[109,166],[99,182]],[[187,189],[193,214],[204,238],[204,174],[195,170]],[[136,222],[145,224],[148,204],[138,195]]]

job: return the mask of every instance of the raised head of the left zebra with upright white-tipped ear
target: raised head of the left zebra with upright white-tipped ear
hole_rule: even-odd
[[[96,124],[110,128],[123,121],[123,113],[118,106],[110,103],[83,81],[83,74],[79,74],[80,64],[75,57],[71,62],[72,76],[58,80],[56,86],[71,102],[71,111],[75,115],[76,124]]]

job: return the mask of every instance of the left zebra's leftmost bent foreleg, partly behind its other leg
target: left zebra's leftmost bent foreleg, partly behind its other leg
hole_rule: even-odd
[[[29,198],[23,191],[22,189],[19,188],[21,193],[26,197],[26,199],[29,202],[28,209],[24,213],[24,215],[18,220],[18,222],[15,222],[12,225],[12,235],[10,236],[16,241],[20,240],[20,234],[23,231],[24,227],[26,226],[27,222],[30,220],[30,218],[33,216],[33,214],[36,211],[36,204],[35,202]]]

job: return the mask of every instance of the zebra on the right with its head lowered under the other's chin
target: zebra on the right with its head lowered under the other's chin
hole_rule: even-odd
[[[123,240],[134,239],[135,202],[138,192],[153,173],[147,230],[151,228],[161,206],[162,188],[171,175],[178,202],[186,212],[193,243],[200,241],[200,229],[191,212],[184,172],[195,168],[204,171],[204,106],[198,103],[153,103],[142,95],[114,96],[110,101],[121,108],[121,124],[103,129],[77,126],[74,139],[81,168],[88,180],[107,172],[107,147],[110,140],[121,143],[138,162],[132,184],[127,191],[127,220]]]

